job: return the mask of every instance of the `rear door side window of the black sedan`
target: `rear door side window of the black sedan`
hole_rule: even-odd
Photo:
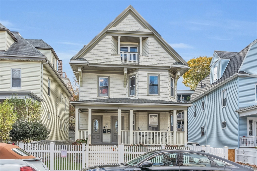
[[[210,167],[210,160],[204,155],[183,153],[183,166]]]

